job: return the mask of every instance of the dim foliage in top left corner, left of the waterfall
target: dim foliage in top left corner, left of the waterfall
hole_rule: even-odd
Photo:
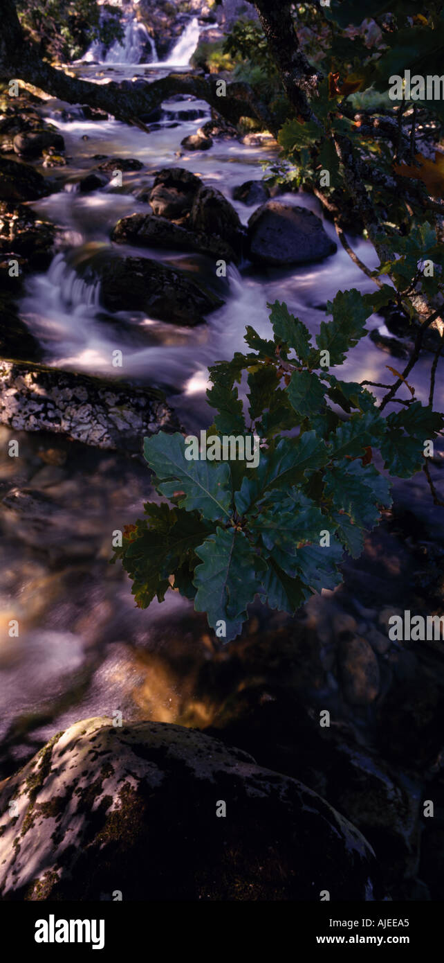
[[[40,54],[66,62],[80,57],[93,40],[109,46],[121,40],[122,11],[96,0],[17,0],[20,23],[38,43]],[[101,17],[101,12],[103,15]]]

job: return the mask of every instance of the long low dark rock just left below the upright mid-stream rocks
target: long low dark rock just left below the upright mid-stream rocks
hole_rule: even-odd
[[[219,237],[194,233],[179,224],[153,215],[132,214],[117,221],[111,240],[117,244],[133,244],[141,247],[176,247],[178,250],[195,251],[225,261],[235,261],[232,247]]]

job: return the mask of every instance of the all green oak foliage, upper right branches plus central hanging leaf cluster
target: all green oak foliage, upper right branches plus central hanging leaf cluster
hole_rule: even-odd
[[[443,208],[431,202],[431,195],[443,196],[442,155],[433,162],[417,143],[438,142],[443,102],[401,109],[388,97],[390,76],[407,67],[440,73],[442,5],[431,0],[418,14],[408,0],[332,0],[330,7],[295,4],[292,11],[308,58],[306,100],[319,70],[305,119],[295,106],[304,86],[301,65],[285,85],[288,50],[275,65],[252,21],[237,23],[225,48],[242,58],[237,76],[243,70],[278,117],[277,178],[314,190],[336,226],[337,197],[351,199],[379,256],[377,268],[359,262],[340,228],[339,236],[376,287],[365,295],[339,291],[314,341],[279,301],[270,305],[272,338],[247,327],[248,351],[210,369],[208,398],[216,414],[208,435],[259,436],[258,467],[224,457],[190,462],[179,433],[145,439],[156,489],[170,505],[147,503],[115,554],[133,580],[137,605],[162,601],[173,586],[208,613],[216,631],[225,622],[227,639],[240,632],[255,596],[294,613],[311,592],[338,585],[344,553],[358,558],[365,533],[390,504],[384,473],[407,479],[427,469],[425,442],[444,426],[432,410],[442,337],[428,405],[408,380],[423,332],[443,302],[436,219]],[[326,170],[330,183],[321,182]],[[337,369],[365,335],[370,315],[393,303],[415,325],[415,348],[403,373],[389,369],[397,380],[382,385],[388,390],[378,403],[365,386],[370,382],[346,381]],[[399,388],[404,398],[397,397]],[[392,401],[399,410],[390,410]],[[432,483],[431,490],[442,504]]]

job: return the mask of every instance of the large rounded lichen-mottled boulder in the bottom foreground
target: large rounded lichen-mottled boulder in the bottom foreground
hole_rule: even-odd
[[[86,719],[0,784],[3,899],[365,900],[374,872],[319,795],[177,725]]]

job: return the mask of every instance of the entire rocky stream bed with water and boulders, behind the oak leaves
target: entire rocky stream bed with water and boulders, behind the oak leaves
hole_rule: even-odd
[[[169,67],[73,69],[148,84]],[[371,289],[313,196],[263,183],[269,136],[191,95],[140,120],[40,91],[2,101],[0,892],[111,898],[112,863],[127,898],[442,899],[444,643],[388,638],[392,614],[443,612],[444,516],[423,473],[395,482],[342,586],[293,619],[255,603],[228,646],[177,592],[137,610],[110,565],[113,534],[153,498],[143,435],[210,425],[208,366],[245,325],[266,335],[278,298],[314,331],[338,289]],[[399,319],[368,332],[343,377],[384,380],[406,354]],[[431,364],[426,344],[422,401]],[[236,818],[214,835],[220,798]],[[181,865],[195,861],[179,881],[173,824]],[[163,860],[142,894],[140,852]]]

